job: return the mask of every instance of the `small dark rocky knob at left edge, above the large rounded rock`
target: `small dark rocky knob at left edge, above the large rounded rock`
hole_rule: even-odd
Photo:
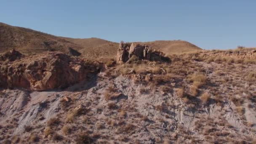
[[[8,51],[6,53],[4,53],[3,55],[0,56],[0,61],[15,61],[16,59],[21,59],[25,57],[23,54],[21,54],[19,51],[16,50],[11,50]]]

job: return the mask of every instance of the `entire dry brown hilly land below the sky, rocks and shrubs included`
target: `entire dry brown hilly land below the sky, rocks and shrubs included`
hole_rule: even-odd
[[[0,143],[256,143],[256,48],[0,23]]]

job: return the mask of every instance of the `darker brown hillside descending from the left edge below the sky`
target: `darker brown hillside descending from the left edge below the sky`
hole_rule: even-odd
[[[82,48],[80,45],[53,35],[0,23],[0,52],[2,53],[13,48],[30,54],[43,51],[66,51],[68,47],[76,50]]]

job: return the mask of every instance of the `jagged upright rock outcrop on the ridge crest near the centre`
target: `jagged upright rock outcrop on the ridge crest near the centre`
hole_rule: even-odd
[[[156,50],[153,51],[147,45],[121,42],[117,50],[117,62],[127,62],[134,56],[138,60],[171,61],[170,58],[164,56],[164,53]]]

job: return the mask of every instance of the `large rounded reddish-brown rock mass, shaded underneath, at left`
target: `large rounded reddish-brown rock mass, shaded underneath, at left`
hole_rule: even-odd
[[[82,60],[60,52],[45,52],[0,64],[0,87],[43,91],[78,83],[85,80],[86,75]]]

